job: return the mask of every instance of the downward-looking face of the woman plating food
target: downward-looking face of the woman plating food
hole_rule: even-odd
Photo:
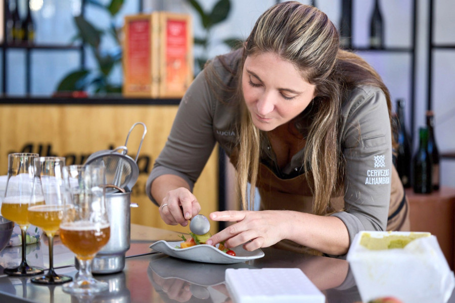
[[[242,89],[254,125],[261,131],[271,131],[308,106],[314,98],[315,85],[278,55],[260,53],[246,58]]]

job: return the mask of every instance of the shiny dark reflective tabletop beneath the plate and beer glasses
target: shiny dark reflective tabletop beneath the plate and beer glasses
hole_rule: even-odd
[[[149,245],[158,240],[176,241],[177,233],[131,225],[131,247],[125,269],[117,274],[96,275],[109,284],[109,292],[76,297],[62,291],[61,285],[43,286],[29,277],[9,277],[0,268],[0,302],[232,302],[224,284],[228,268],[299,268],[326,295],[327,302],[361,301],[346,261],[323,256],[297,254],[275,248],[262,249],[265,256],[245,263],[220,265],[185,261],[162,253],[152,253]],[[49,251],[43,237],[27,245],[27,261],[48,268]],[[54,262],[58,274],[74,277],[74,254],[55,239]],[[0,266],[17,265],[20,247],[7,247],[0,253]],[[453,300],[453,296],[449,301]]]

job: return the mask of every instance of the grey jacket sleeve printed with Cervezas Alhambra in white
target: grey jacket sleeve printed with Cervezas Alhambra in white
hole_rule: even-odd
[[[343,106],[341,123],[345,211],[333,215],[344,222],[352,242],[361,230],[387,226],[392,139],[384,93],[373,86],[355,89]]]

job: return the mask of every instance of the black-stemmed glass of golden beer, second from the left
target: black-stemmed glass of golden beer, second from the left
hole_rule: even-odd
[[[33,192],[44,197],[44,204],[32,199],[28,207],[28,221],[41,228],[48,236],[49,271],[46,275],[31,279],[38,284],[62,284],[72,280],[59,276],[54,271],[54,236],[59,230],[65,207],[69,207],[71,196],[63,182],[64,157],[38,157],[34,159],[35,178]]]

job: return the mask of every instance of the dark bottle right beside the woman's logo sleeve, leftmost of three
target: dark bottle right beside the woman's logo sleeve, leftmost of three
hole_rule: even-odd
[[[396,141],[398,143],[396,170],[405,188],[411,187],[412,148],[410,136],[406,131],[404,118],[404,100],[396,101]]]

